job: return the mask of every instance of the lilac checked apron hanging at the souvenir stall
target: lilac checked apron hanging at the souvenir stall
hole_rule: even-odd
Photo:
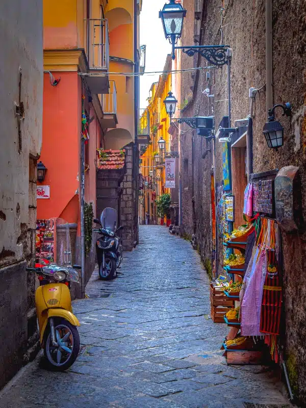
[[[254,262],[256,261],[256,267],[250,276],[241,305],[242,336],[262,336],[260,319],[263,287],[267,273],[267,254],[265,250],[260,250],[258,258],[254,257]]]

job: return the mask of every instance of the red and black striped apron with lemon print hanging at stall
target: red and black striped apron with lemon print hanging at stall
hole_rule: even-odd
[[[282,314],[282,287],[274,250],[267,250],[267,274],[263,288],[260,331],[279,335]]]

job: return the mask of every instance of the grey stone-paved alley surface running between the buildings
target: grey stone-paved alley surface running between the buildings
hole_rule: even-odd
[[[228,329],[210,319],[209,278],[190,243],[167,228],[141,226],[118,278],[94,273],[86,292],[73,303],[84,345],[77,362],[55,373],[37,359],[4,390],[1,407],[290,406],[268,368],[226,365]]]

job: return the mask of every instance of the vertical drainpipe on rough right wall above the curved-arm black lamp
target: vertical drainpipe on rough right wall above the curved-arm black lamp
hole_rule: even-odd
[[[266,104],[273,107],[272,0],[266,0]]]

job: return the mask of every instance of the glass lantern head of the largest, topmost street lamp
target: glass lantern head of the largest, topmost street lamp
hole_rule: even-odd
[[[169,4],[165,4],[163,10],[160,11],[159,17],[162,19],[164,34],[166,38],[177,38],[182,36],[183,21],[186,17],[186,10],[179,3],[175,4],[174,0],[170,0]]]

